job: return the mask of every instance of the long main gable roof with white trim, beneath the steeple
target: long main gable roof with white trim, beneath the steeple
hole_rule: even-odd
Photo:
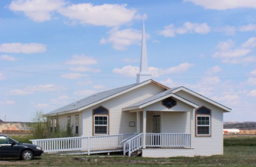
[[[71,103],[64,107],[58,108],[57,110],[51,111],[50,113],[47,113],[45,115],[46,116],[54,116],[57,113],[67,114],[67,113],[82,111],[86,108],[89,108],[96,104],[102,103],[103,101],[109,100],[110,98],[119,96],[120,94],[126,93],[128,91],[131,91],[135,88],[141,87],[141,86],[149,84],[149,83],[155,84],[164,89],[168,88],[168,87],[162,86],[162,84],[159,84],[153,80],[147,80],[142,83],[130,84],[128,86],[123,86],[123,87],[115,88],[112,90],[107,90],[107,91],[103,91],[103,92],[100,92],[97,94],[93,94],[91,96],[81,99],[80,101],[76,101],[76,105],[74,105],[74,103]]]

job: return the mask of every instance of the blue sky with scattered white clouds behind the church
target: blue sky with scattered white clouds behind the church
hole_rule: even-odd
[[[254,0],[0,1],[0,119],[30,121],[136,82],[142,18],[153,79],[256,121]]]

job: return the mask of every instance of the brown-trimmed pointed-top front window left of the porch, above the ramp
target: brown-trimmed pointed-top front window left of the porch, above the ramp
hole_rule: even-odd
[[[109,134],[109,110],[98,107],[93,110],[93,135]]]

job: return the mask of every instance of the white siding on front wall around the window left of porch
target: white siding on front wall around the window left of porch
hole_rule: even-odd
[[[83,110],[83,136],[92,136],[92,110],[96,107],[103,106],[109,109],[109,126],[110,134],[134,133],[137,131],[137,123],[135,127],[129,127],[129,122],[136,122],[136,113],[122,111],[122,108],[134,104],[140,100],[151,97],[154,94],[164,91],[152,83],[136,88],[132,91],[114,97],[103,103]],[[142,118],[142,116],[140,117]],[[142,122],[141,122],[142,125]]]

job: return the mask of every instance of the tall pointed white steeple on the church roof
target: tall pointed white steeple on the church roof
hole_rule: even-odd
[[[137,82],[141,83],[146,80],[151,79],[151,74],[149,73],[149,67],[147,66],[147,46],[146,46],[146,36],[145,36],[145,26],[143,19],[143,30],[142,30],[142,46],[140,55],[140,73],[137,74]]]

